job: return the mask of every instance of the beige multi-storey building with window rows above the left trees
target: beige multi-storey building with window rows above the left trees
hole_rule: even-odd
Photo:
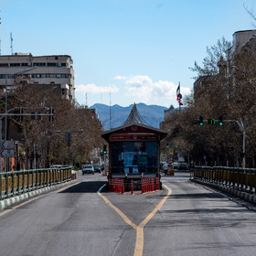
[[[14,53],[0,56],[0,94],[16,91],[20,83],[37,86],[40,90],[59,88],[62,98],[75,99],[72,59],[69,55],[33,56]]]

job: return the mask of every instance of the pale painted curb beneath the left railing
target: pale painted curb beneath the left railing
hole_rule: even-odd
[[[43,187],[43,188],[40,188],[40,189],[37,189],[37,190],[29,191],[25,194],[18,195],[16,197],[10,197],[10,198],[6,198],[4,200],[1,200],[0,201],[0,211],[3,210],[4,208],[9,207],[13,204],[16,204],[20,201],[26,200],[27,198],[36,197],[36,196],[41,195],[41,194],[46,194],[50,191],[57,190],[60,187],[66,187],[71,182],[73,182],[73,180],[70,180],[68,182],[61,183],[61,184],[58,184],[58,185],[54,185],[54,186],[51,186],[51,187]]]

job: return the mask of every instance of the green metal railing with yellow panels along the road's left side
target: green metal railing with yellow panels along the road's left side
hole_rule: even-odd
[[[0,199],[71,180],[71,168],[48,168],[0,173]]]

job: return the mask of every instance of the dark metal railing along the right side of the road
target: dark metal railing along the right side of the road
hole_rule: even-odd
[[[195,166],[194,178],[256,194],[256,169],[254,168]]]

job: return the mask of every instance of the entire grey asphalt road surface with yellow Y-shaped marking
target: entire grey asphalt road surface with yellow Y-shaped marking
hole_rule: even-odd
[[[0,255],[255,255],[255,207],[190,183],[188,172],[133,196],[97,193],[101,174],[77,177],[0,212]]]

